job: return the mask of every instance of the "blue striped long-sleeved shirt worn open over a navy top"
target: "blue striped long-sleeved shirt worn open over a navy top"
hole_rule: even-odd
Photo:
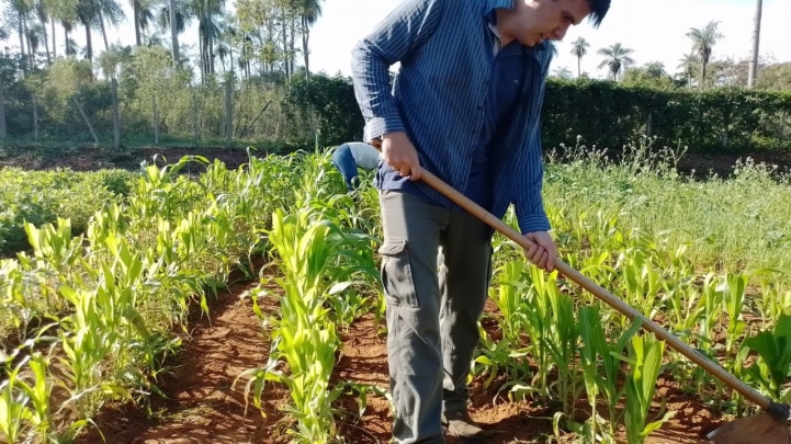
[[[487,16],[513,0],[405,0],[352,52],[354,93],[365,118],[364,140],[406,132],[421,167],[456,190],[467,189],[485,130],[485,106],[495,52]],[[549,43],[523,47],[521,106],[500,122],[487,153],[490,210],[515,205],[522,232],[545,231],[539,117],[552,52]],[[391,91],[389,66],[400,61]],[[423,182],[437,203],[459,206]]]

